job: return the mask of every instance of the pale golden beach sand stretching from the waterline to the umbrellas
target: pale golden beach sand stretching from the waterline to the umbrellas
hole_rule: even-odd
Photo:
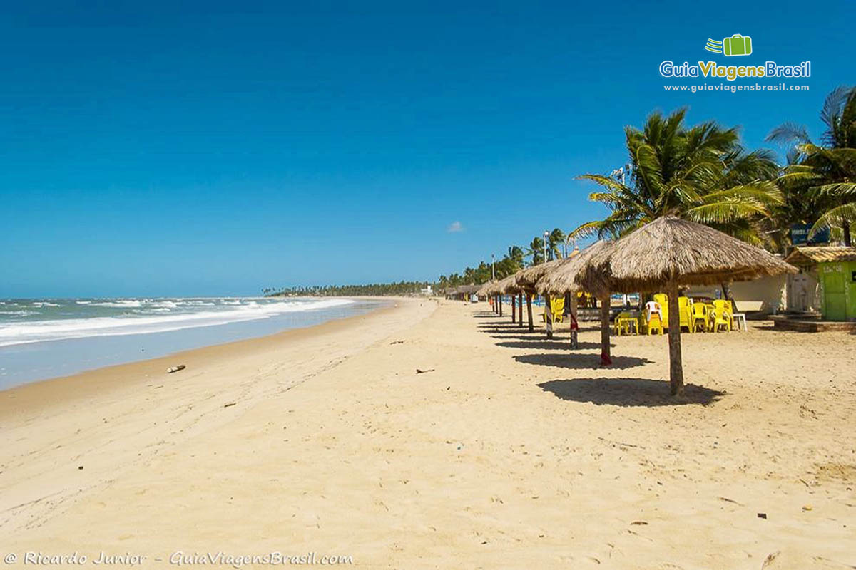
[[[684,335],[675,401],[666,337],[602,369],[596,329],[571,353],[559,327],[401,301],[2,392],[0,555],[856,565],[856,337]]]

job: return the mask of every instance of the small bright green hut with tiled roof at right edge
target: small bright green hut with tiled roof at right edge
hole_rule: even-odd
[[[785,261],[811,269],[817,275],[823,320],[856,319],[856,248],[842,245],[798,246]]]

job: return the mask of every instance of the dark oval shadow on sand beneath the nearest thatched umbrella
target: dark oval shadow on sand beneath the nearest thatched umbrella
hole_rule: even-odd
[[[538,387],[552,392],[562,400],[613,406],[707,406],[726,394],[704,386],[688,384],[684,386],[683,396],[673,397],[669,396],[669,382],[639,378],[550,380]]]

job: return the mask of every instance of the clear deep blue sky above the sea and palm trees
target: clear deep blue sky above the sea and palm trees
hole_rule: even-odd
[[[852,3],[15,3],[0,297],[433,280],[605,214],[583,173],[687,107],[821,133]],[[704,50],[752,37],[752,56]],[[809,91],[665,91],[664,60],[811,61]],[[740,61],[737,61],[740,60]],[[774,84],[781,79],[762,79]],[[774,150],[776,150],[774,148]]]

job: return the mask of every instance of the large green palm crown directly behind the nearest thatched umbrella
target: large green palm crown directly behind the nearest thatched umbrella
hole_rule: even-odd
[[[619,238],[651,220],[675,215],[752,243],[764,241],[757,222],[782,202],[770,180],[778,172],[772,155],[743,150],[735,128],[713,121],[687,127],[685,115],[685,109],[668,117],[656,112],[641,130],[625,128],[629,176],[580,177],[603,186],[589,199],[603,203],[610,214],[577,227],[569,238]]]

